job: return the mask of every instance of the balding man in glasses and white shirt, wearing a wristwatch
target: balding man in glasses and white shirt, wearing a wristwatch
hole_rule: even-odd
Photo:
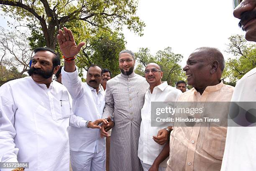
[[[145,69],[146,81],[149,87],[145,94],[145,102],[141,109],[141,130],[138,144],[138,157],[144,171],[148,171],[154,160],[169,142],[169,133],[172,127],[151,127],[151,102],[176,102],[182,92],[171,87],[167,82],[161,82],[163,72],[158,64],[150,63]],[[165,171],[166,162],[159,166],[159,171]]]

